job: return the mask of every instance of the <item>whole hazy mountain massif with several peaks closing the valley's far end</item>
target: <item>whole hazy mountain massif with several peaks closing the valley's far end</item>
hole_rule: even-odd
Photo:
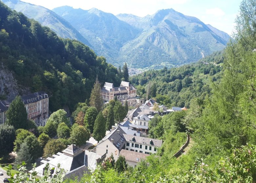
[[[223,50],[230,38],[174,9],[162,9],[143,18],[131,14],[115,17],[96,8],[64,6],[53,11],[70,22],[97,53],[116,66],[127,62],[135,68],[163,68],[195,62]]]

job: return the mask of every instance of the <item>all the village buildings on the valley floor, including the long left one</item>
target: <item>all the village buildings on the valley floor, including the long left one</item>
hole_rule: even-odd
[[[94,171],[97,164],[103,163],[104,159],[113,156],[117,160],[121,155],[125,157],[127,164],[136,167],[142,159],[156,153],[162,145],[162,140],[148,137],[149,121],[156,114],[163,116],[171,112],[187,110],[179,107],[168,109],[164,105],[158,105],[154,99],[145,101],[144,98],[137,96],[136,88],[125,81],[122,81],[119,87],[105,82],[100,95],[104,103],[117,98],[123,105],[127,101],[128,106],[134,109],[128,111],[123,121],[116,122],[110,131],[106,131],[106,136],[97,142],[93,149],[84,150],[71,144],[62,152],[42,159],[40,166],[35,168],[38,176],[43,176],[46,163],[49,163],[50,168],[55,168],[55,171],[60,164],[60,168],[66,171],[66,178],[81,177],[85,172]],[[35,92],[21,98],[27,110],[28,119],[33,120],[37,126],[45,126],[49,117],[48,94]],[[6,111],[12,100],[0,101],[0,124],[5,123]]]

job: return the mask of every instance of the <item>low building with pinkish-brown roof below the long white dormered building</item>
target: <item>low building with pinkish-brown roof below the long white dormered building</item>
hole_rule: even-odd
[[[143,153],[138,153],[135,151],[128,151],[125,149],[122,149],[119,156],[124,156],[125,161],[132,167],[136,167],[137,164],[142,160],[145,159],[149,154],[143,154]]]

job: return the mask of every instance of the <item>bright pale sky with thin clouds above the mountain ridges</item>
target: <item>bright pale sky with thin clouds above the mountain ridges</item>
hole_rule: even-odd
[[[60,6],[91,9],[117,15],[119,13],[134,14],[140,17],[152,15],[160,9],[173,8],[184,15],[200,19],[229,35],[232,34],[236,15],[242,0],[22,0],[41,5],[48,9]]]

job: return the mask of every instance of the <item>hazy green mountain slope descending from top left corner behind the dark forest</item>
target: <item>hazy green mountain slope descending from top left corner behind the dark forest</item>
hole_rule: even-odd
[[[42,6],[25,3],[20,0],[2,0],[9,8],[22,12],[28,18],[33,18],[43,26],[51,28],[58,36],[62,38],[75,39],[84,44],[91,44],[66,20]]]

